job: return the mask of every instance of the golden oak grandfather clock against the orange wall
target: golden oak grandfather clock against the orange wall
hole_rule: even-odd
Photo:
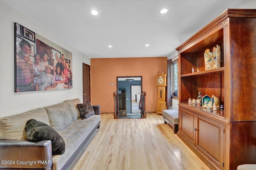
[[[156,103],[156,113],[162,114],[163,110],[167,109],[166,106],[166,74],[158,71],[156,74],[156,86],[158,93],[158,102]]]

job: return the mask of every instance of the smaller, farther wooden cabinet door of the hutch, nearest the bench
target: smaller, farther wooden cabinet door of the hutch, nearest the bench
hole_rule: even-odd
[[[195,128],[194,116],[194,112],[180,107],[179,131],[180,134],[192,145],[195,145],[195,131],[193,130]]]

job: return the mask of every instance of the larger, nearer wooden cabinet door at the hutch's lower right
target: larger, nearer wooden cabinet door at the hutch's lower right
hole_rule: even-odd
[[[223,169],[224,124],[197,115],[196,127],[196,148],[218,168]]]

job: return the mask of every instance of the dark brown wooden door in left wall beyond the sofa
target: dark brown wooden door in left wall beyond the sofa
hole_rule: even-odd
[[[83,99],[84,102],[91,102],[91,91],[90,91],[90,66],[83,63]]]

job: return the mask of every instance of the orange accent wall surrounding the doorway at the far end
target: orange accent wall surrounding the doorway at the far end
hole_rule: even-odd
[[[156,112],[155,75],[159,70],[167,74],[167,57],[91,59],[90,63],[91,103],[100,105],[101,112],[114,112],[117,76],[142,76],[142,90],[147,92],[146,111]]]

